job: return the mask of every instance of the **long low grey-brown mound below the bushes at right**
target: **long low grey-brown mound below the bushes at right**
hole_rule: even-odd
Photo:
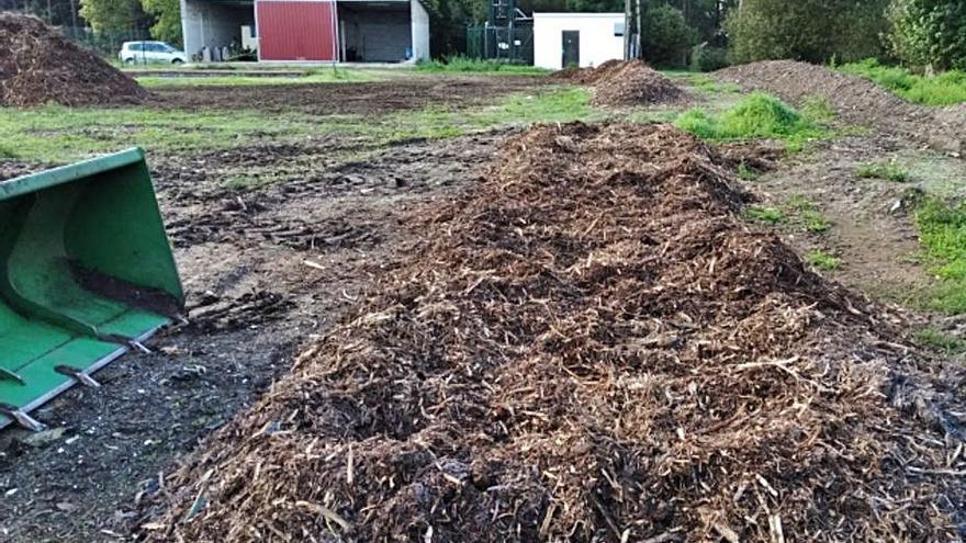
[[[727,82],[797,102],[823,97],[847,121],[913,137],[942,150],[966,151],[966,115],[906,102],[867,79],[795,60],[764,60],[715,72]]]

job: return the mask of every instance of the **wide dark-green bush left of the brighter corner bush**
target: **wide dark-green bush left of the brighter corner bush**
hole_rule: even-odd
[[[879,56],[889,0],[744,0],[726,23],[733,61]]]

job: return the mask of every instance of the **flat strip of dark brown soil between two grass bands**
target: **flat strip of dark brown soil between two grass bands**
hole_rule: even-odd
[[[156,105],[178,109],[256,108],[313,114],[370,114],[426,106],[465,106],[532,89],[535,76],[408,77],[391,82],[180,87],[157,89]]]

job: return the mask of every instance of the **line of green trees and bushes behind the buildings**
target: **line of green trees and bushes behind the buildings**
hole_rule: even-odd
[[[709,70],[770,58],[812,63],[875,57],[922,71],[966,69],[964,0],[629,0],[640,2],[641,48],[652,64]],[[468,24],[488,0],[424,0],[437,56],[465,50]],[[533,11],[624,12],[625,0],[519,0]],[[0,0],[94,34],[133,29],[181,43],[179,0]]]

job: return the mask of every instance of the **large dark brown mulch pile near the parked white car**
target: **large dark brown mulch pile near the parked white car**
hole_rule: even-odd
[[[40,19],[0,13],[0,105],[130,104],[148,95]]]

